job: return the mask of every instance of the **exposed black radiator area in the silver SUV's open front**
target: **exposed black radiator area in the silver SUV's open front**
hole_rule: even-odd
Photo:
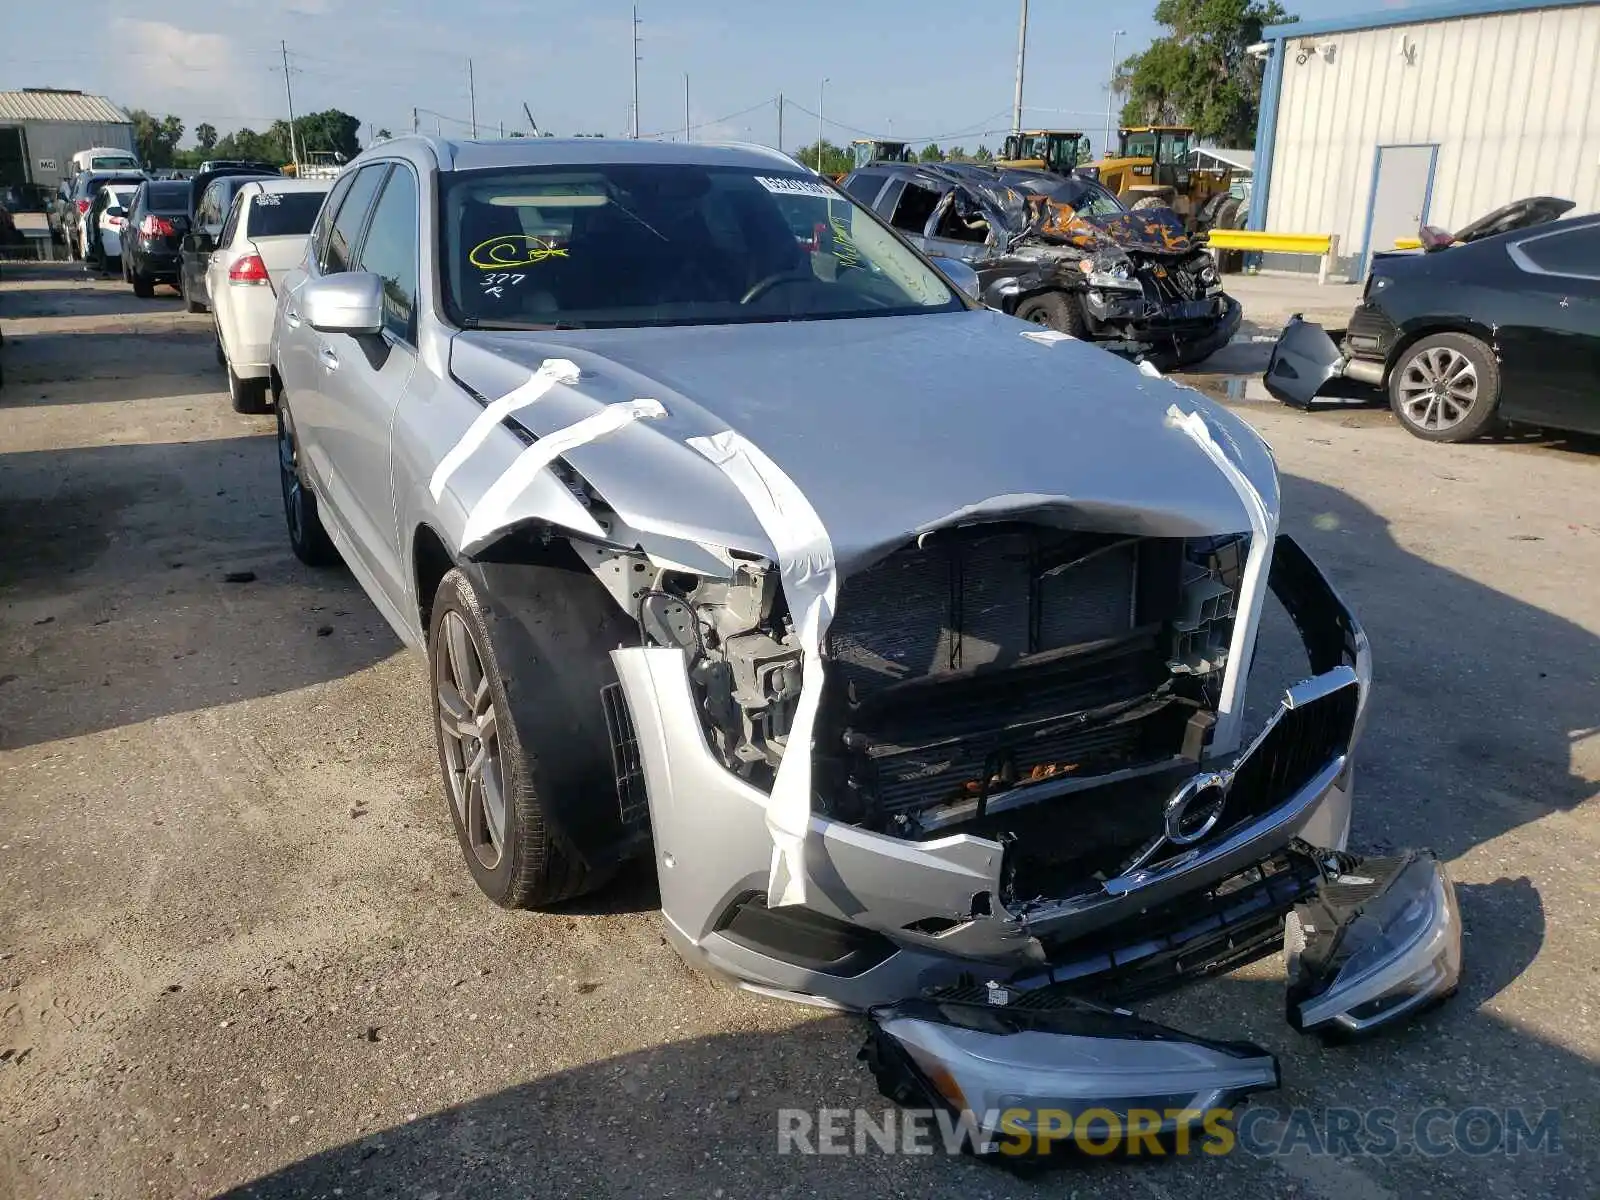
[[[850,808],[882,819],[1174,757],[1192,709],[1171,694],[1162,624],[1182,555],[1176,539],[987,525],[851,578],[826,698]]]

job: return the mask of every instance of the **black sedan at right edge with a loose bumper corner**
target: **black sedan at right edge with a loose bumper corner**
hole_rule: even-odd
[[[1378,254],[1344,339],[1291,320],[1267,390],[1309,408],[1333,379],[1384,387],[1429,442],[1499,422],[1600,434],[1600,214],[1549,219],[1558,205],[1571,208],[1520,202],[1522,219],[1501,210],[1454,238],[1424,230],[1422,251]]]

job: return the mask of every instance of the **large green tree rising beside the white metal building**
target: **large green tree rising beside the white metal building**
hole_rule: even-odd
[[[1264,26],[1293,21],[1277,0],[1160,0],[1165,37],[1122,64],[1123,125],[1192,125],[1222,146],[1250,146],[1261,107],[1261,64],[1246,48]]]

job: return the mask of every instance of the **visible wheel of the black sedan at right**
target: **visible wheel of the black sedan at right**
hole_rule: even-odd
[[[1435,333],[1410,346],[1389,371],[1389,406],[1424,442],[1470,442],[1494,424],[1499,363],[1464,333]]]

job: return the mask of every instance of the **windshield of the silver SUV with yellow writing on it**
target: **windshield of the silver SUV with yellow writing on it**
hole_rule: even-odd
[[[723,325],[965,304],[813,174],[682,163],[440,176],[445,307],[483,328]]]

